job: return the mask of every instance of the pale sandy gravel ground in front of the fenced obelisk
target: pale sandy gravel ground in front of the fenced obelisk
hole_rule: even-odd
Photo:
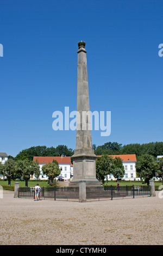
[[[163,245],[163,198],[86,203],[0,198],[0,245]]]

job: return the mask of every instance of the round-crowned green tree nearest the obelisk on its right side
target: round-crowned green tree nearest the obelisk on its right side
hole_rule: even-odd
[[[108,175],[112,171],[112,161],[112,157],[108,155],[102,155],[96,160],[96,175],[97,178],[99,178],[99,180],[103,182],[103,184],[105,177],[108,184]]]

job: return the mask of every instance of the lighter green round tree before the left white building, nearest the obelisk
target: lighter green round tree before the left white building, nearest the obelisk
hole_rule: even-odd
[[[49,186],[52,186],[54,178],[60,174],[59,164],[56,160],[42,166],[42,173],[48,176]]]

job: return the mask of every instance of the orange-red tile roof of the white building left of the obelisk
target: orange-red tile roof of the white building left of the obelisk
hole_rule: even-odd
[[[38,161],[39,163],[49,163],[56,160],[59,164],[67,163],[71,164],[70,156],[34,156],[33,161]]]

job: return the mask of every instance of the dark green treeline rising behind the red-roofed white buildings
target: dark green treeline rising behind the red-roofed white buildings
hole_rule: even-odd
[[[150,142],[146,144],[122,144],[117,142],[106,142],[103,145],[96,144],[92,145],[92,149],[95,150],[95,154],[99,155],[126,155],[135,154],[136,157],[148,154],[154,157],[158,155],[163,155],[163,142]],[[23,149],[15,157],[15,160],[28,159],[33,161],[34,156],[72,156],[73,149],[67,148],[66,145],[58,145],[54,147],[36,146],[28,149]],[[14,159],[14,157],[9,156],[9,158]]]

